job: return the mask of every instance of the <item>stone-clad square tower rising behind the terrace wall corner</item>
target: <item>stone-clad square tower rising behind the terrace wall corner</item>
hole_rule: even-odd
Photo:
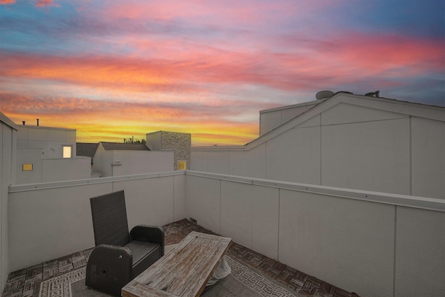
[[[172,150],[174,169],[178,170],[178,162],[186,161],[186,169],[191,168],[191,134],[158,131],[147,134],[147,146],[150,150]]]

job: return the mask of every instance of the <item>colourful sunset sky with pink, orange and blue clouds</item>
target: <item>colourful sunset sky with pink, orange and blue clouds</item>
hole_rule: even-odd
[[[0,111],[78,142],[244,145],[319,90],[445,105],[444,0],[0,3]]]

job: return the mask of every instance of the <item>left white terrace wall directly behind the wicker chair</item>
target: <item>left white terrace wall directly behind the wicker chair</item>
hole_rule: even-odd
[[[184,177],[181,171],[11,186],[9,256],[2,259],[9,257],[11,272],[94,247],[90,198],[113,191],[125,191],[130,229],[180,220],[184,188],[175,189]]]

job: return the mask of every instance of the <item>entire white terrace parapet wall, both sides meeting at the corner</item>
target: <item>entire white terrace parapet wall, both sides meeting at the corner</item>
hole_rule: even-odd
[[[193,171],[10,186],[10,271],[94,246],[89,198],[121,189],[129,227],[193,218],[361,296],[445,292],[445,200]]]

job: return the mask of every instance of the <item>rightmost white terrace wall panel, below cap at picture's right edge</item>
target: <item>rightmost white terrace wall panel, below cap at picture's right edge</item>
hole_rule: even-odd
[[[396,295],[445,296],[445,212],[397,207]]]

